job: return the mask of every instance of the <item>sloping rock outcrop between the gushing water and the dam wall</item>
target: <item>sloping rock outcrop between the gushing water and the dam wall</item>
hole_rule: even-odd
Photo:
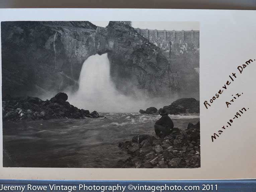
[[[177,93],[179,78],[173,81],[171,64],[160,47],[123,22],[110,21],[106,28],[110,74],[117,89],[126,94],[141,89],[151,97]]]

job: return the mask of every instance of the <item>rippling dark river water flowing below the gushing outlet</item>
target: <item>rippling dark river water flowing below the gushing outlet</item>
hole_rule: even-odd
[[[114,168],[129,157],[118,148],[138,134],[152,134],[160,115],[101,113],[106,118],[3,122],[4,167]],[[199,114],[169,115],[186,129]]]

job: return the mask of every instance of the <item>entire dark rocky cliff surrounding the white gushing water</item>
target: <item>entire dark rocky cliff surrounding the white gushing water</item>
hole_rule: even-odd
[[[123,93],[140,89],[151,97],[170,97],[179,92],[179,78],[162,50],[123,22],[106,28],[88,21],[2,22],[1,34],[3,95],[76,90],[83,62],[103,53]]]

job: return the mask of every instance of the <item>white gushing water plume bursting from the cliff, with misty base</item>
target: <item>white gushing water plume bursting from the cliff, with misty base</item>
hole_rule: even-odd
[[[140,95],[139,91],[136,92]],[[110,78],[107,54],[90,56],[83,63],[79,89],[69,95],[68,101],[72,105],[89,111],[138,112],[141,108],[146,109],[152,106],[152,103],[145,97],[126,96],[116,90]],[[160,108],[163,105],[158,106]]]

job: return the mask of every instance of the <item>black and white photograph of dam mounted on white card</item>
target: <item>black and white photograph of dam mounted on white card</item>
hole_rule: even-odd
[[[197,21],[2,21],[3,167],[199,168],[199,49]]]

